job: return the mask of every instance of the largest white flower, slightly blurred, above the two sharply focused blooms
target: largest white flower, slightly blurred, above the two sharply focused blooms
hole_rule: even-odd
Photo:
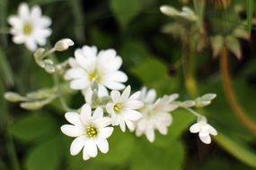
[[[86,89],[97,81],[99,93],[106,93],[107,89],[124,89],[123,82],[128,81],[128,76],[120,72],[122,59],[114,49],[102,50],[97,53],[96,47],[84,46],[75,50],[75,59],[70,58],[66,80],[71,81],[71,89]]]

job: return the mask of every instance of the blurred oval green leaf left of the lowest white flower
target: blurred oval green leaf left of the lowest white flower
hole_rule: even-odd
[[[48,138],[57,132],[55,120],[45,113],[24,115],[9,127],[14,138],[24,142]]]

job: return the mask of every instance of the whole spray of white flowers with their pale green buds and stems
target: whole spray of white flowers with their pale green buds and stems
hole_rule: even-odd
[[[188,17],[196,21],[197,17],[189,8],[182,12],[163,6],[163,13]],[[128,75],[120,71],[122,59],[114,49],[98,51],[97,47],[84,46],[75,49],[75,57],[63,63],[56,64],[49,55],[56,51],[64,51],[73,46],[69,38],[60,39],[49,50],[37,48],[44,46],[46,38],[51,34],[48,28],[51,24],[49,17],[42,16],[40,7],[32,6],[31,12],[28,4],[21,4],[17,16],[10,16],[13,42],[24,43],[28,49],[35,51],[36,64],[46,72],[62,76],[68,87],[56,86],[52,89],[40,89],[21,96],[14,92],[5,93],[9,101],[21,102],[25,109],[40,109],[55,98],[63,98],[61,94],[70,94],[70,91],[80,90],[84,95],[84,105],[78,110],[66,108],[66,120],[70,124],[61,126],[61,131],[67,136],[75,137],[70,147],[71,155],[77,155],[83,149],[84,160],[96,157],[98,149],[102,153],[109,151],[108,138],[119,126],[122,132],[126,129],[135,132],[137,136],[146,135],[150,142],[155,140],[155,131],[166,135],[172,124],[172,111],[181,107],[198,117],[198,123],[190,127],[190,132],[199,132],[199,139],[210,143],[209,134],[216,135],[216,130],[207,124],[206,117],[199,115],[191,107],[207,106],[216,98],[215,94],[207,94],[195,100],[177,101],[178,94],[164,95],[157,98],[155,89],[142,88],[131,92],[131,86],[124,83]]]

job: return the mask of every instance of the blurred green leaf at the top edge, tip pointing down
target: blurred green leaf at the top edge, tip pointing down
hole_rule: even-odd
[[[123,29],[128,26],[142,7],[142,0],[110,0],[110,9]]]

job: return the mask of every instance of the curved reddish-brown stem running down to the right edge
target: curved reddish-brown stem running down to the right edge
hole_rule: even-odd
[[[234,114],[239,118],[239,120],[244,124],[244,126],[251,132],[256,133],[256,124],[252,122],[252,119],[245,114],[243,106],[241,106],[234,93],[234,88],[232,86],[231,77],[228,70],[228,52],[226,47],[223,47],[220,56],[220,70],[223,89],[225,91],[225,97],[234,111]]]

